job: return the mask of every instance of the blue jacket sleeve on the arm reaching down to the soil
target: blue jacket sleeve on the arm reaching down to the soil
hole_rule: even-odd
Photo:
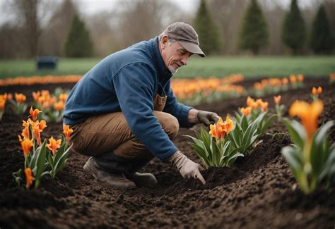
[[[146,63],[131,63],[112,78],[119,105],[131,132],[151,154],[164,161],[177,147],[153,114],[155,70]]]

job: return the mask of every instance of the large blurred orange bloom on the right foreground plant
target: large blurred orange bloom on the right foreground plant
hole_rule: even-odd
[[[295,101],[290,106],[290,116],[298,116],[307,132],[307,137],[311,139],[317,130],[317,118],[322,113],[324,104],[321,100],[313,101],[308,104],[305,101]]]

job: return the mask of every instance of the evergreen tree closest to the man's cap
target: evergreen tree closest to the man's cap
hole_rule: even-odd
[[[220,47],[218,28],[211,17],[211,12],[208,10],[205,0],[201,0],[196,12],[194,29],[199,35],[200,47],[206,55],[218,52]]]

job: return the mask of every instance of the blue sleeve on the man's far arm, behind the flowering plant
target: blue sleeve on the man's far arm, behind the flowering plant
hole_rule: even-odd
[[[167,101],[163,111],[172,114],[172,116],[175,116],[181,128],[191,128],[192,126],[194,126],[194,124],[189,123],[187,120],[189,110],[191,110],[192,107],[185,106],[184,104],[181,104],[177,101],[170,87],[170,82],[165,88],[167,91]]]

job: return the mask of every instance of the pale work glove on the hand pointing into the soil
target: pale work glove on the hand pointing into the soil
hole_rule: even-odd
[[[182,175],[183,178],[197,178],[203,185],[206,184],[205,179],[201,175],[200,171],[204,170],[199,163],[195,163],[187,158],[181,151],[175,152],[169,159],[167,159],[172,166],[175,166]]]

